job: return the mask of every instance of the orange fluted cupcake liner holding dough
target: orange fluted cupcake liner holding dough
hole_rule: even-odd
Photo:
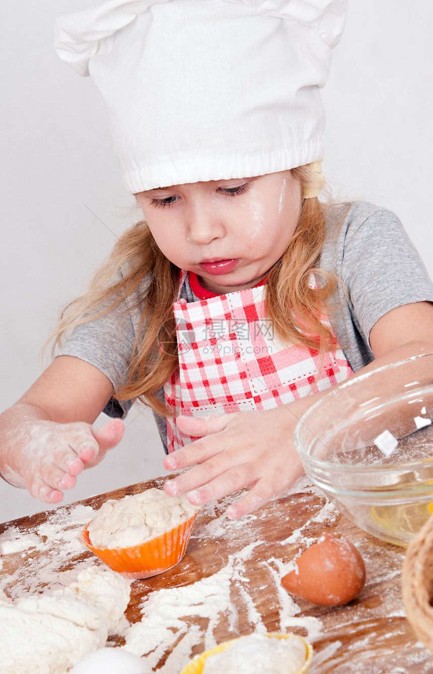
[[[124,578],[138,580],[157,576],[168,571],[182,559],[187,551],[189,537],[193,529],[194,514],[172,530],[151,541],[127,548],[98,548],[90,543],[87,524],[81,532],[81,541],[89,550],[102,559],[112,571]]]

